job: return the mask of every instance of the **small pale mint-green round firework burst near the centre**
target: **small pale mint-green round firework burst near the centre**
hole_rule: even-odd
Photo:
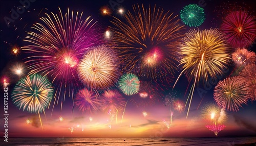
[[[139,92],[140,81],[134,74],[124,74],[118,82],[118,87],[125,95],[133,95]]]

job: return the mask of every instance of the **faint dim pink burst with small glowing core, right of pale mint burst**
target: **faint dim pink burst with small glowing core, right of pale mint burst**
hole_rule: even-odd
[[[157,100],[157,92],[150,82],[141,81],[139,92],[131,97],[131,102],[137,107],[153,105]]]

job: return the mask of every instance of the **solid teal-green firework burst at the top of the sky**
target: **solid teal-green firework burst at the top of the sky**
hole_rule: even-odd
[[[202,25],[205,19],[204,9],[196,4],[189,4],[180,11],[181,20],[189,27]]]

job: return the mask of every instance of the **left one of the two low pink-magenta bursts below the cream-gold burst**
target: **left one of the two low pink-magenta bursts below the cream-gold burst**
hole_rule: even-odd
[[[100,100],[97,98],[96,93],[89,91],[87,88],[81,89],[76,94],[74,103],[82,112],[92,110],[98,110],[100,106]]]

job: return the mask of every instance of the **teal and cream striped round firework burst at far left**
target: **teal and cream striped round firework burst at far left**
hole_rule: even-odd
[[[28,112],[39,113],[48,107],[53,97],[52,83],[38,74],[20,79],[12,92],[14,105]]]

